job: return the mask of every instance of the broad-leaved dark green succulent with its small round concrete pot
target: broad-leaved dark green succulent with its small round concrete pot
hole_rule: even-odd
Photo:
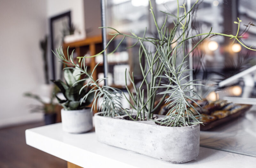
[[[84,80],[80,80],[80,76],[79,70],[67,68],[64,70],[66,84],[61,80],[52,80],[65,97],[62,100],[55,95],[60,105],[63,106],[61,109],[63,131],[69,133],[82,133],[92,129],[91,109],[87,106],[92,102],[93,95],[90,94],[83,99],[89,89],[84,86]]]

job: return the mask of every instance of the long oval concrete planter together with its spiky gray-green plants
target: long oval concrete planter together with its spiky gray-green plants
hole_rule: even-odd
[[[111,28],[116,33],[110,34],[113,35],[113,38],[107,44],[108,47],[116,36],[123,36],[117,47],[125,38],[137,40],[131,47],[140,45],[138,58],[143,80],[137,87],[133,73],[128,73],[133,86],[133,91],[129,90],[126,81],[130,99],[116,88],[99,86],[100,80],[104,79],[95,81],[92,77],[94,71],[92,74],[87,72],[85,58],[89,57],[80,58],[83,66],[80,67],[74,63],[73,54],[66,57],[62,48],[56,50],[56,56],[68,64],[72,64],[73,69],[78,68],[89,79],[85,86],[91,86],[92,89],[84,96],[84,99],[93,93],[95,99],[92,108],[102,111],[95,114],[95,132],[100,142],[171,163],[185,163],[196,159],[199,154],[199,124],[202,123],[200,114],[193,106],[193,103],[198,105],[196,100],[201,100],[198,94],[194,92],[193,86],[200,84],[197,84],[196,80],[189,79],[189,72],[192,71],[192,69],[188,69],[189,54],[210,35],[228,36],[247,49],[254,51],[255,49],[247,47],[239,40],[241,37],[238,36],[241,22],[239,19],[238,22],[235,22],[238,24],[236,35],[210,31],[209,33],[188,36],[190,12],[195,4],[187,11],[185,4],[179,6],[178,1],[177,14],[166,13],[164,24],[160,26],[157,24],[150,1],[149,4],[156,25],[156,37],[147,37],[146,29],[144,35],[139,37],[134,33],[126,35]],[[167,17],[175,17],[176,21],[173,28],[166,26]],[[196,36],[204,37],[192,46],[192,49],[187,49],[188,39]],[[147,43],[153,44],[154,50],[150,50],[146,46]],[[145,64],[142,64],[143,59],[145,59]],[[147,79],[148,76],[150,80]],[[124,80],[126,80],[126,72]],[[158,96],[160,96],[160,100],[155,104]],[[126,98],[131,109],[122,107],[120,103],[122,97]],[[154,115],[164,102],[168,104],[169,112],[165,116]]]

